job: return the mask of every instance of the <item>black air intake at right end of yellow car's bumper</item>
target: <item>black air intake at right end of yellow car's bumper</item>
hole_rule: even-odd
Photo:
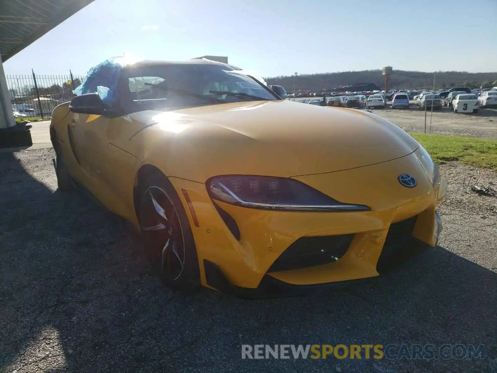
[[[393,264],[414,254],[417,241],[413,237],[417,215],[390,225],[385,244],[376,265],[378,272],[384,272]]]

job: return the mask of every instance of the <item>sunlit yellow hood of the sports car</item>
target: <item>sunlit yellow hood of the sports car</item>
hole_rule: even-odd
[[[221,174],[292,177],[329,173],[397,159],[419,147],[401,128],[372,113],[289,100],[143,111],[130,116],[143,123],[147,143],[168,149],[171,157],[167,158],[181,163],[182,177],[197,181]],[[145,141],[143,136],[135,137]],[[152,143],[149,149],[154,148]],[[152,153],[136,156],[149,158]],[[174,166],[169,164],[167,169]],[[192,175],[185,175],[185,170]]]

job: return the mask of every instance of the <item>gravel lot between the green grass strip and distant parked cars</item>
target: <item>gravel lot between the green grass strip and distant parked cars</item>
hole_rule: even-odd
[[[409,132],[424,132],[424,110],[411,104],[405,109],[372,110],[392,123]],[[426,132],[429,132],[431,112],[426,113]],[[454,113],[447,107],[434,110],[431,120],[431,133],[497,139],[497,110],[480,109],[475,114]]]

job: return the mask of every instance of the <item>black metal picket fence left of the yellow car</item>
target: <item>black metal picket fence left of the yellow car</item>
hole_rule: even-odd
[[[7,75],[7,89],[16,121],[50,119],[55,106],[71,101],[73,90],[84,76],[68,75]]]

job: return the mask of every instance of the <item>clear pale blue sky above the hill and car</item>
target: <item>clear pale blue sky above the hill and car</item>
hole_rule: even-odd
[[[108,57],[228,56],[264,77],[380,69],[497,71],[497,0],[94,0],[6,74],[85,74]]]

